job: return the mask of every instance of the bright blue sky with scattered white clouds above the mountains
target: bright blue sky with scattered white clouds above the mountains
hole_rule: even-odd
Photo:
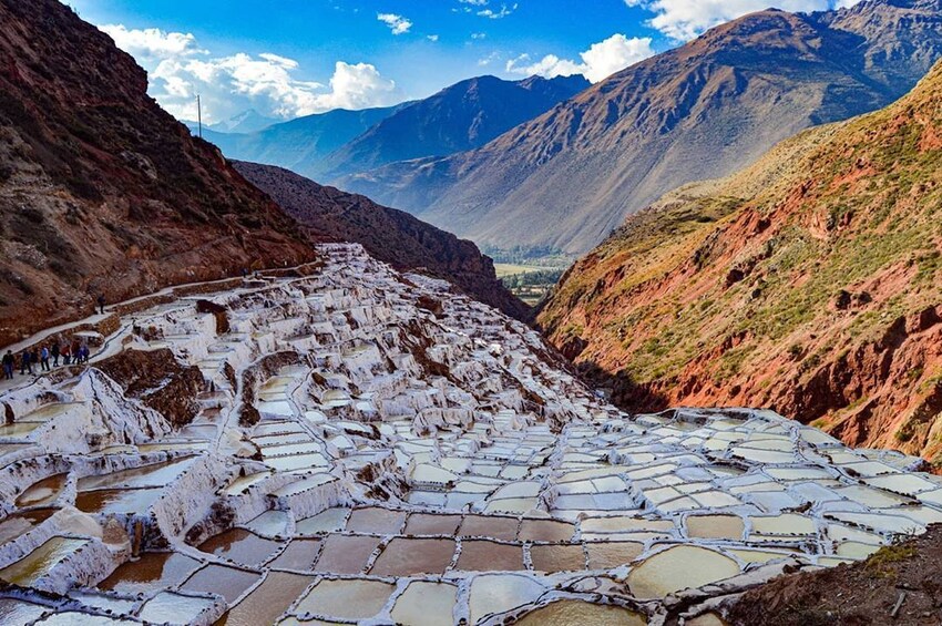
[[[857,0],[65,0],[150,74],[172,114],[281,120],[426,98],[463,79],[597,82],[776,6]]]

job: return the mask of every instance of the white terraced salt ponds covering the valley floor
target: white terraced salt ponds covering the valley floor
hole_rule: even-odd
[[[703,626],[942,522],[919,459],[626,414],[525,325],[319,252],[119,311],[92,367],[0,392],[0,622]]]

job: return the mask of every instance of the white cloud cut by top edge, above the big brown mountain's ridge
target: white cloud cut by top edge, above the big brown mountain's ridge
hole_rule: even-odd
[[[860,0],[625,0],[628,7],[642,7],[655,16],[648,23],[667,37],[687,41],[705,30],[746,13],[774,6],[792,12],[825,11],[857,4]]]

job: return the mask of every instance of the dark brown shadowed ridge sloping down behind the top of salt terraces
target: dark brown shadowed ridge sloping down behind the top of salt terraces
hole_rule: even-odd
[[[356,242],[399,270],[421,269],[511,317],[528,316],[528,307],[501,285],[491,259],[471,242],[280,167],[245,162],[234,166],[316,239]]]

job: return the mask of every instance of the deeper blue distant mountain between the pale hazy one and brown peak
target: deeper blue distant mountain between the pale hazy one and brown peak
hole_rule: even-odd
[[[461,81],[382,120],[328,156],[322,170],[337,178],[397,161],[472,150],[588,86],[581,75]]]

